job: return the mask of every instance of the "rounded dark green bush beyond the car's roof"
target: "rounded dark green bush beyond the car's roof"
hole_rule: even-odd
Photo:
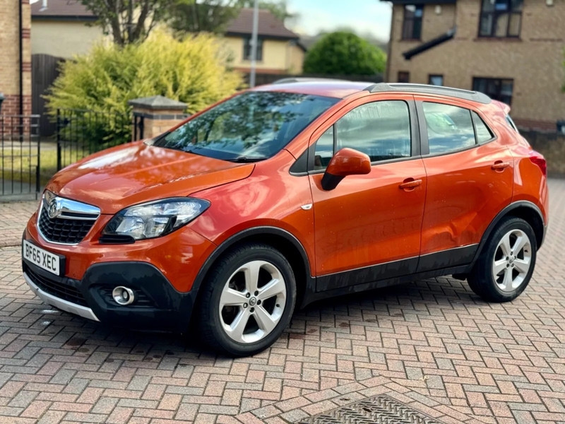
[[[304,73],[374,75],[384,71],[386,54],[353,33],[324,35],[307,52]]]

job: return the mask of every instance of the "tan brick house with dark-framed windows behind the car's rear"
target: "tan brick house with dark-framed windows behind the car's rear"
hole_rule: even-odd
[[[565,0],[391,3],[386,81],[482,91],[523,128],[565,119]]]

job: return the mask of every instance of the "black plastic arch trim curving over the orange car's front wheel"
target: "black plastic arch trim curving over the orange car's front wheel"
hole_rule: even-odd
[[[296,247],[296,249],[298,250],[300,257],[304,262],[304,270],[305,270],[304,278],[306,281],[306,285],[304,287],[304,296],[302,298],[303,299],[307,298],[309,293],[316,292],[316,278],[311,276],[310,274],[310,261],[308,258],[308,254],[306,253],[306,249],[304,249],[302,243],[297,239],[295,235],[292,234],[292,232],[283,230],[283,228],[273,227],[270,225],[246,228],[245,230],[237,232],[234,235],[228,237],[226,240],[224,240],[218,247],[216,247],[214,252],[210,254],[210,256],[206,259],[203,266],[201,267],[200,271],[198,271],[198,274],[194,279],[194,283],[192,285],[191,291],[198,293],[198,290],[200,289],[204,281],[204,278],[206,277],[206,274],[208,273],[208,271],[210,271],[214,262],[220,256],[222,256],[222,254],[225,253],[227,249],[230,249],[230,247],[236,245],[237,242],[244,240],[246,237],[251,237],[254,235],[278,235],[280,237],[285,238],[287,242],[292,243],[292,245]]]

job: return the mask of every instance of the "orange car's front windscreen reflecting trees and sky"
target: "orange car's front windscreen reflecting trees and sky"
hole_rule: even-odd
[[[235,96],[153,141],[222,160],[270,158],[340,99],[251,91]]]

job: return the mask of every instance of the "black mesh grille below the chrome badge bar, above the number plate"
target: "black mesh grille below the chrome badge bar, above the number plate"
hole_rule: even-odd
[[[49,242],[74,245],[83,241],[93,228],[95,220],[72,218],[49,218],[47,208],[42,207],[37,226],[42,236]]]

